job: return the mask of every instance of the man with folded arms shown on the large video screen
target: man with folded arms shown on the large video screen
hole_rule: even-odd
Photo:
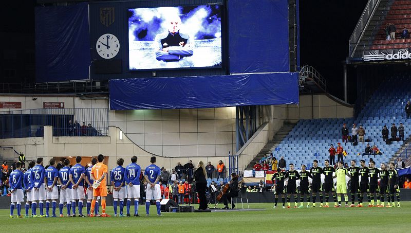
[[[193,42],[188,34],[180,33],[181,19],[178,15],[166,20],[168,31],[156,35],[154,46],[158,61],[180,61],[193,56]]]

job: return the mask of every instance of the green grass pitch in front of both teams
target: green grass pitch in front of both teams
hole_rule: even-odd
[[[330,203],[332,204],[332,203]],[[240,205],[240,204],[239,204]],[[318,205],[318,204],[317,204]],[[241,205],[240,205],[241,206]],[[24,207],[24,205],[22,206]],[[198,208],[198,206],[196,206]],[[219,207],[223,207],[219,204]],[[145,217],[145,206],[139,207],[141,217],[111,218],[28,218],[10,219],[10,210],[0,210],[4,229],[13,232],[409,232],[411,202],[401,202],[401,207],[342,207],[272,209],[272,203],[250,204],[250,208],[264,211],[162,213]],[[113,207],[107,207],[113,214]],[[22,208],[22,213],[24,213]],[[39,211],[39,209],[37,210]],[[50,208],[51,211],[51,208]],[[86,211],[83,208],[83,213]],[[125,211],[125,207],[124,207]],[[130,209],[134,211],[134,206]],[[63,213],[66,212],[64,209]],[[14,210],[16,213],[16,210]],[[31,213],[31,210],[29,211]],[[190,228],[190,230],[188,230]],[[33,231],[34,230],[34,231]]]

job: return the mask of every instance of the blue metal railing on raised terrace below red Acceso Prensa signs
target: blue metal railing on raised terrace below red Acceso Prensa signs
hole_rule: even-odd
[[[53,127],[53,136],[106,136],[108,109],[30,109],[0,112],[0,138],[43,137],[44,126]]]

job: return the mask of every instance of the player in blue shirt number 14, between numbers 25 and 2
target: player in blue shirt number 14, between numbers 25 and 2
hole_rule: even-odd
[[[130,205],[134,199],[134,216],[138,215],[138,199],[140,198],[141,167],[137,164],[137,156],[132,157],[132,163],[125,168],[124,179],[127,183],[127,217],[130,217]]]

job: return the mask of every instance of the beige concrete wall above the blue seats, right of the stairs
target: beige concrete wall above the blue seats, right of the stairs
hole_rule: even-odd
[[[325,94],[300,95],[300,104],[288,105],[288,120],[349,118],[354,116],[353,106],[343,105]]]

